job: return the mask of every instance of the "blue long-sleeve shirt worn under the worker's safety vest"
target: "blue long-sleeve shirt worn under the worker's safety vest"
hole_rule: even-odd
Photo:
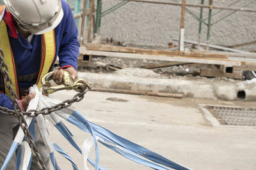
[[[60,66],[73,66],[77,68],[77,57],[79,55],[79,42],[77,39],[78,32],[74,21],[72,11],[68,3],[61,0],[63,8],[63,18],[60,24],[54,29],[56,41],[56,57],[59,57]],[[40,69],[41,62],[41,46],[42,36],[33,35],[31,43],[28,39],[23,38],[18,32],[18,38],[10,36],[8,29],[10,44],[12,46],[13,57],[17,67],[17,76],[36,73]],[[54,62],[56,60],[54,59]],[[19,82],[20,88],[29,88],[36,83],[36,78],[31,82]],[[5,94],[0,94],[0,106],[13,109],[12,101]]]

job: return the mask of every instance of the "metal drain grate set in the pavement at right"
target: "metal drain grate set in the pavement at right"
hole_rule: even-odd
[[[256,108],[211,105],[205,108],[221,125],[256,126]]]

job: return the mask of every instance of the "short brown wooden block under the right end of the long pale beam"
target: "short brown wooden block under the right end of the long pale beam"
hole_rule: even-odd
[[[242,79],[243,71],[236,70],[233,73],[223,73],[220,69],[201,69],[200,76]]]

